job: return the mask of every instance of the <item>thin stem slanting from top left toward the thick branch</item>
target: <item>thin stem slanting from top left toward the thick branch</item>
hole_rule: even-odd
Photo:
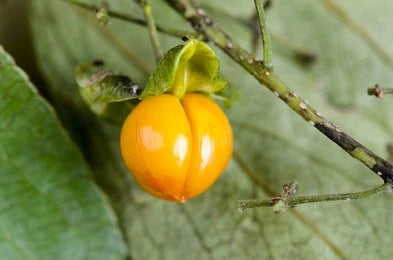
[[[86,4],[86,3],[82,3],[82,2],[77,2],[77,1],[73,1],[73,0],[61,0],[61,1],[69,3],[71,5],[77,6],[79,8],[85,9],[85,10],[93,11],[93,12],[97,12],[100,9],[99,6],[90,5],[90,4]],[[112,11],[109,9],[106,9],[106,11],[107,11],[109,17],[116,18],[116,19],[126,21],[126,22],[131,22],[131,23],[141,25],[141,26],[147,26],[147,22],[145,20],[135,17],[131,14],[123,14],[123,13]],[[174,37],[178,37],[178,38],[181,38],[184,35],[197,36],[193,32],[167,28],[167,27],[160,26],[160,25],[157,25],[156,28],[157,28],[158,32],[165,33],[165,34],[168,34],[168,35],[171,35]]]

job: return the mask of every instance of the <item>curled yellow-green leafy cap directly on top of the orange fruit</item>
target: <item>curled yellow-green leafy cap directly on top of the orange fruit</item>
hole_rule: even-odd
[[[218,72],[220,62],[203,41],[190,39],[164,54],[147,82],[141,98],[171,92],[181,98],[186,92],[214,93],[227,81]]]

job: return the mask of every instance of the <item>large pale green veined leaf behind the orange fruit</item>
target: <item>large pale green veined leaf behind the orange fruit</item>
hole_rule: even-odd
[[[111,1],[110,8],[138,15],[139,9],[132,2]],[[187,26],[162,1],[152,2],[158,23]],[[250,33],[238,18],[252,15],[252,1],[201,2],[233,39],[242,46],[251,45]],[[346,8],[344,12],[373,30],[373,37],[385,39],[393,34],[393,28],[383,26],[385,20],[379,16],[382,12],[388,17],[390,1],[337,2]],[[36,0],[32,4],[38,61],[57,96],[64,99],[71,95],[72,106],[78,106],[72,69],[96,58],[139,83],[146,82],[143,71],[153,67],[154,57],[144,28],[113,19],[108,27],[101,28],[94,14],[63,1]],[[368,97],[365,90],[376,82],[393,82],[393,74],[364,38],[342,23],[323,1],[273,1],[268,26],[276,35],[318,55],[317,63],[305,68],[288,55],[278,38],[273,38],[277,74],[320,113],[386,156],[385,146],[393,138],[393,103],[388,98],[378,101]],[[180,43],[163,35],[160,39],[165,49]],[[385,45],[393,55],[391,46]],[[111,192],[108,195],[120,201],[116,212],[131,255],[135,259],[390,259],[391,196],[301,206],[283,216],[273,215],[271,209],[237,212],[237,200],[268,196],[270,190],[279,192],[283,183],[293,180],[300,183],[302,194],[357,191],[380,181],[260,87],[225,54],[218,50],[217,54],[223,75],[241,94],[227,112],[234,128],[235,150],[243,161],[233,160],[205,194],[178,205],[135,188],[128,199],[124,186],[129,182],[135,185],[125,177],[128,173],[117,171],[118,167],[99,167],[113,164],[112,160],[122,163],[118,156],[119,129],[99,124],[104,134],[93,138],[93,142],[108,142],[112,152],[105,151],[109,157],[100,157],[98,166],[94,164],[97,151],[83,148],[85,144],[80,143],[86,156],[93,158],[90,162],[95,174],[99,172],[99,179],[124,176],[120,179],[127,184],[119,181],[110,189],[121,190],[118,197],[111,196]],[[73,116],[75,120],[81,115]],[[88,133],[89,138],[97,134],[83,128],[78,131]],[[248,176],[252,174],[251,180]]]

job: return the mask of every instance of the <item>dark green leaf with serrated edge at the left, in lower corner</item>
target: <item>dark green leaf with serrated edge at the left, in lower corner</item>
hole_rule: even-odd
[[[123,259],[107,200],[26,74],[0,46],[1,259]]]

